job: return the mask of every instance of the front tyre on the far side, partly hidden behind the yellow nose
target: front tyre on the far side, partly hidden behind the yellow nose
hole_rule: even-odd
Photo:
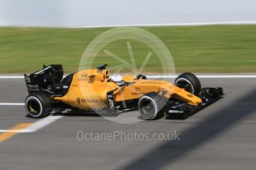
[[[197,76],[191,72],[184,72],[175,79],[174,84],[187,92],[199,95],[201,92],[201,84]]]

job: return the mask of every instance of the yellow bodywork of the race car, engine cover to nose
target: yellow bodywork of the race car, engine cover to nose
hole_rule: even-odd
[[[127,86],[117,86],[109,79],[107,69],[86,69],[73,74],[68,93],[54,100],[62,101],[79,109],[103,109],[109,106],[107,93],[114,92],[114,101],[139,99],[148,92],[157,92],[165,98],[179,98],[191,106],[197,106],[202,100],[180,89],[168,81],[144,80],[134,76],[123,76]]]

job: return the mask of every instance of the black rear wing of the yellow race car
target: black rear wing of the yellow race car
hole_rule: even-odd
[[[63,77],[61,64],[43,66],[43,69],[33,72],[30,75],[24,74],[28,93],[50,91],[52,86],[58,84]]]

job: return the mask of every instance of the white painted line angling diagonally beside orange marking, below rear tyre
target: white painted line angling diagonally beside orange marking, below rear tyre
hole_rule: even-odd
[[[45,126],[50,125],[56,120],[59,120],[60,118],[63,118],[63,116],[48,116],[46,118],[36,121],[36,123],[33,123],[31,126],[28,126],[26,129],[17,129],[17,130],[0,129],[0,132],[16,132],[16,133],[36,132],[39,129],[44,128]]]

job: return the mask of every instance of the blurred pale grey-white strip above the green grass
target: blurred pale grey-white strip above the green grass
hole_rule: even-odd
[[[2,26],[77,27],[255,21],[253,0],[1,0]]]

